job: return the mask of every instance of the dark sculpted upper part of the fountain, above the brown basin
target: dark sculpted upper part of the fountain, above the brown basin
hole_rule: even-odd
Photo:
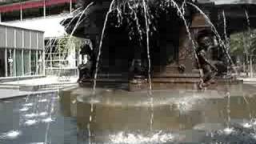
[[[70,22],[66,28],[68,33],[90,38],[93,42],[93,72],[90,78],[82,78],[81,86],[93,85],[95,89],[97,82],[99,87],[127,84],[130,91],[198,88],[198,83],[207,79],[203,75],[209,71],[198,59],[200,35],[210,37],[212,41],[216,39],[212,43],[215,48],[206,50],[209,60],[218,61],[215,65],[218,74],[214,76],[217,82],[206,85],[208,89],[226,83],[241,83],[236,78],[226,77],[228,68],[236,73],[232,70],[234,63],[227,39],[230,34],[246,30],[247,26],[234,26],[237,23],[234,21],[242,17],[243,20],[237,21],[244,25],[244,9],[250,13],[254,5],[231,5],[239,8],[236,10],[238,14],[232,14],[226,5],[193,1],[78,3],[86,9],[80,17],[66,19],[63,25]],[[243,16],[240,10],[243,10]],[[222,19],[223,23],[218,22]],[[250,21],[254,22],[254,18]],[[214,70],[210,71],[214,73]]]

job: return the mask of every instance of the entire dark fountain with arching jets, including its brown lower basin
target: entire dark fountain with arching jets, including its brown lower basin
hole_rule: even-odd
[[[70,22],[68,33],[93,42],[93,73],[78,87],[61,90],[60,98],[64,113],[77,118],[82,138],[89,143],[256,142],[254,105],[245,94],[255,94],[254,88],[232,75],[236,70],[226,46],[230,34],[248,28],[244,10],[256,14],[255,5],[192,0],[78,4],[84,14],[63,24]],[[250,17],[251,28],[255,22]],[[198,48],[207,38],[217,49],[206,54],[222,66],[216,67],[216,76],[209,75],[215,82],[201,86],[208,78],[204,75],[214,71],[206,70]],[[247,105],[249,112],[237,110]]]

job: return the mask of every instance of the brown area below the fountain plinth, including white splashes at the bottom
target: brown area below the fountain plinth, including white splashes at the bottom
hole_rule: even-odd
[[[229,106],[226,90],[153,91],[152,130],[150,99],[146,92],[99,89],[92,97],[89,91],[66,90],[61,94],[61,103],[67,116],[77,118],[79,131],[86,131],[90,123],[93,142],[164,143],[163,139],[166,142],[214,142],[214,138],[218,142],[229,142],[229,138],[256,142],[255,133],[251,131],[255,126],[252,118],[256,108],[256,91],[253,93],[252,86],[230,89]],[[92,102],[93,112],[90,111]],[[244,133],[247,135],[240,137]]]

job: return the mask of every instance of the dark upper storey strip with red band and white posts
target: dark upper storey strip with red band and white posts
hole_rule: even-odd
[[[69,14],[73,7],[74,0],[2,0],[0,1],[0,20],[1,22],[22,21],[29,18]]]

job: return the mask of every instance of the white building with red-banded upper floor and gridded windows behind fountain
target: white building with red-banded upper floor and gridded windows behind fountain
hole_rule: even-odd
[[[62,69],[77,70],[79,51],[73,44],[61,46],[66,34],[62,20],[72,16],[76,0],[0,0],[0,22],[44,31],[46,75]],[[65,43],[65,42],[64,42]],[[67,50],[59,48],[66,47]]]

